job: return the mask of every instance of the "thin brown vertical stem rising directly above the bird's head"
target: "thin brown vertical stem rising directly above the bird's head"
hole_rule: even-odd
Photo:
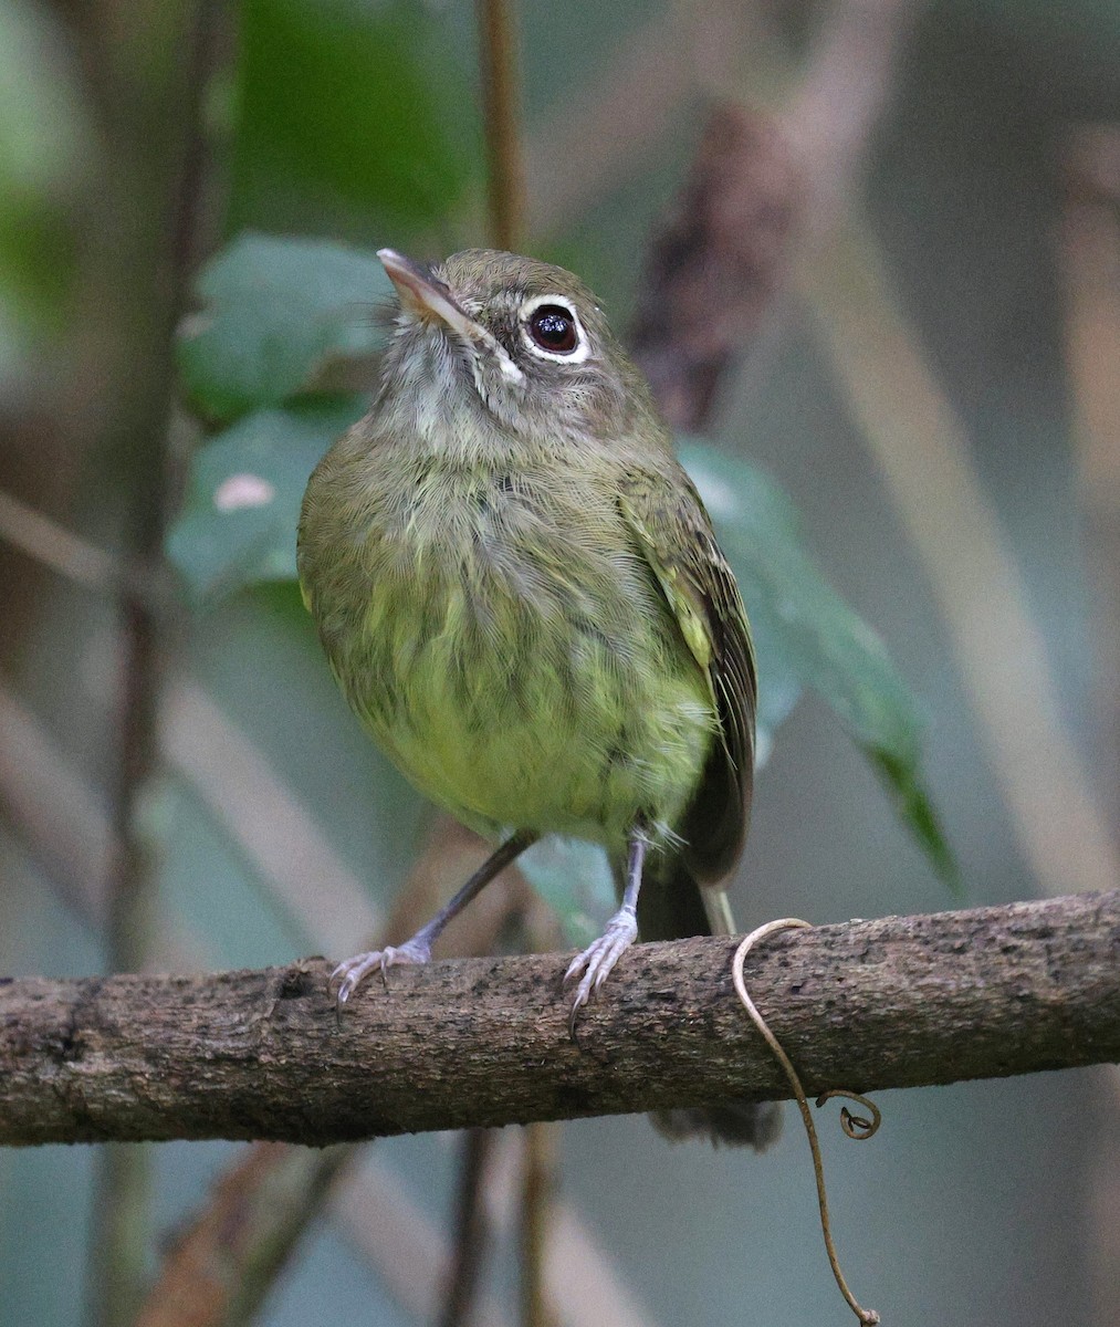
[[[516,251],[524,238],[525,169],[519,127],[514,0],[478,0],[478,25],[491,242],[498,248]]]

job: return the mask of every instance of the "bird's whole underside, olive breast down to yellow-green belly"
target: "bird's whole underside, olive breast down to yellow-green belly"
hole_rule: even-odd
[[[308,488],[300,576],[354,710],[482,832],[671,837],[717,719],[609,492],[576,467],[426,475],[350,439]]]

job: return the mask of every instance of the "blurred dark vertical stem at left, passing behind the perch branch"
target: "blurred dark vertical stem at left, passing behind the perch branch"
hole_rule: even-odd
[[[186,7],[139,0],[105,11],[98,33],[105,118],[119,151],[119,174],[102,224],[113,228],[127,216],[131,236],[115,271],[109,260],[111,279],[122,287],[119,401],[113,402],[109,445],[135,476],[125,537],[129,559],[147,583],[155,583],[163,568],[163,536],[178,488],[171,345],[195,256],[204,163],[200,102],[218,12],[218,0]],[[109,240],[102,236],[102,243]],[[171,620],[161,598],[139,593],[129,579],[121,614],[121,744],[105,947],[110,970],[137,971],[150,951],[155,922],[158,709]],[[150,1153],[107,1147],[100,1160],[92,1319],[97,1327],[130,1327],[143,1298],[151,1247]]]

